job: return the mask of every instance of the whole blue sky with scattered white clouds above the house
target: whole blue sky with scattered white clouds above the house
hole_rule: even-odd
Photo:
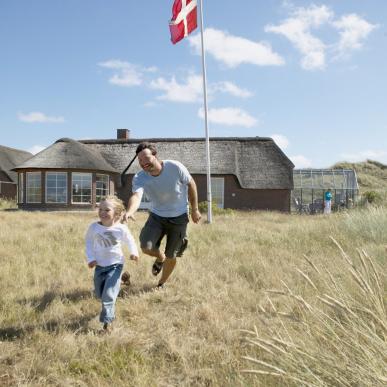
[[[204,137],[200,35],[173,0],[0,0],[0,144]],[[203,0],[210,136],[296,167],[387,164],[387,1]]]

